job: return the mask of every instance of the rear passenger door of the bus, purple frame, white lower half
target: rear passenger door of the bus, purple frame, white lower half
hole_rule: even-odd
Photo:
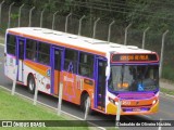
[[[24,77],[24,66],[23,66],[24,44],[25,44],[25,39],[17,38],[17,53],[16,53],[17,81],[21,82],[23,82],[23,77]]]

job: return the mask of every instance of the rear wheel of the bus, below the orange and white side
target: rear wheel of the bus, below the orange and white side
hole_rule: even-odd
[[[27,87],[28,87],[28,91],[34,94],[35,93],[36,83],[35,83],[35,79],[34,79],[33,75],[28,76]]]

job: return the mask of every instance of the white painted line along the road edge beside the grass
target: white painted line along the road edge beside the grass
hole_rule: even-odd
[[[5,88],[5,87],[0,86],[0,88],[7,90],[7,91],[9,91],[9,92],[11,92],[11,90],[8,89],[8,88]],[[34,101],[32,98],[25,96],[25,95],[20,94],[20,93],[17,93],[17,92],[15,92],[15,94],[17,94],[17,95],[20,95],[20,96],[22,96],[22,98],[25,98],[25,99],[27,99],[27,100],[29,100],[29,101]],[[44,106],[46,106],[46,107],[48,107],[48,108],[51,108],[51,109],[53,109],[53,110],[57,112],[57,108],[55,108],[55,107],[49,106],[49,105],[47,105],[47,104],[45,104],[45,103],[41,103],[41,102],[39,102],[39,101],[37,101],[37,103],[39,103],[40,105],[44,105]],[[76,119],[78,119],[78,120],[84,120],[83,118],[79,118],[79,117],[77,117],[77,116],[74,116],[74,115],[72,115],[72,114],[69,114],[69,113],[66,113],[66,112],[64,112],[64,110],[61,110],[61,112],[62,112],[63,114],[65,114],[65,115],[69,115],[69,116],[71,116],[71,117],[73,117],[73,118],[76,118]],[[105,128],[99,127],[99,126],[97,126],[97,125],[95,125],[95,123],[92,123],[92,122],[90,122],[90,121],[88,121],[88,123],[90,123],[91,126],[97,127],[97,128],[99,128],[99,129],[101,129],[101,130],[105,130]]]

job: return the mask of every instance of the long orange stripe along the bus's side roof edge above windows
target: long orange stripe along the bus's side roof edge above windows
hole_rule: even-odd
[[[72,46],[72,44],[60,42],[60,41],[55,41],[55,40],[49,40],[47,38],[40,38],[40,37],[37,37],[37,36],[30,36],[30,35],[26,35],[26,34],[20,34],[20,32],[16,32],[14,30],[9,30],[9,32],[13,34],[13,35],[18,35],[21,37],[27,37],[27,38],[30,38],[30,39],[37,39],[37,40],[41,40],[41,41],[45,41],[45,42],[48,42],[48,43],[50,42],[52,44],[67,47],[67,48],[72,48],[72,49],[76,49],[76,50],[82,50],[82,51],[86,51],[86,52],[90,52],[90,53],[94,53],[94,54],[99,54],[99,55],[105,56],[105,53],[100,52],[100,51],[95,51],[95,50],[90,50],[90,49],[86,49],[86,48],[82,48],[82,47],[76,47],[76,46]]]

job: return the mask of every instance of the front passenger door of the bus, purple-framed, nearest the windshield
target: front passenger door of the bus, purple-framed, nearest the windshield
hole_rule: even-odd
[[[97,81],[96,81],[96,107],[105,110],[105,66],[107,61],[96,58]]]

